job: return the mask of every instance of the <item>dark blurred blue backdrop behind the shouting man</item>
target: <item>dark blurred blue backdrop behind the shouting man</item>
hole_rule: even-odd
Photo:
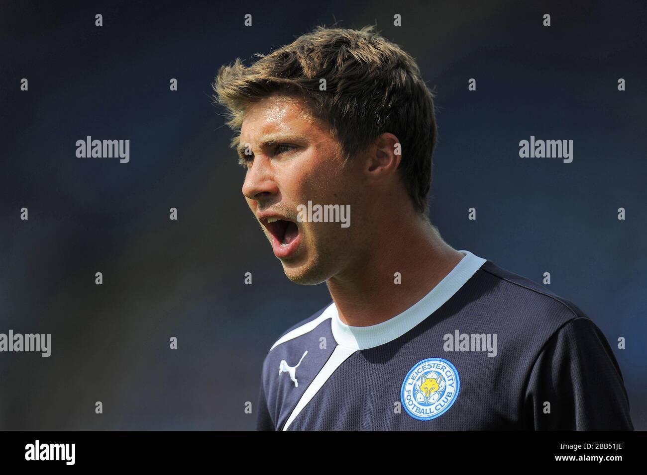
[[[606,334],[647,428],[644,1],[0,5],[0,332],[52,333],[49,358],[0,354],[0,429],[255,427],[243,408],[263,357],[330,299],[283,274],[210,83],[335,21],[376,24],[437,94],[444,240],[538,282],[550,271]],[[130,162],[76,158],[87,135],[129,139]],[[531,135],[573,140],[573,163],[520,158]]]

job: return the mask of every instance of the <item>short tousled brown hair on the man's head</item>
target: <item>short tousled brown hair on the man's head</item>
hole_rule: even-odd
[[[415,209],[426,215],[437,140],[433,94],[415,60],[373,28],[317,26],[267,56],[257,54],[250,67],[237,58],[218,71],[213,98],[228,110],[227,125],[240,131],[249,103],[276,92],[301,96],[328,123],[345,162],[380,134],[395,134],[404,184]],[[320,90],[320,79],[327,90]],[[240,134],[232,146],[239,140]]]

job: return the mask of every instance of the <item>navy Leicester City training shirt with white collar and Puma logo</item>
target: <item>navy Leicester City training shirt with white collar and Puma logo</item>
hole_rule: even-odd
[[[465,257],[367,327],[334,302],[263,362],[258,430],[633,430],[600,329],[540,284]]]

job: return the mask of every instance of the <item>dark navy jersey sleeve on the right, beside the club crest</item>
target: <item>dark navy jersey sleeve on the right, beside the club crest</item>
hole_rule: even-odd
[[[572,319],[545,343],[523,410],[531,430],[633,430],[620,367],[591,319]]]

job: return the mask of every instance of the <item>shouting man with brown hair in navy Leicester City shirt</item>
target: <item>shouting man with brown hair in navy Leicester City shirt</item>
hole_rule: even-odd
[[[333,300],[270,348],[259,429],[633,429],[598,327],[430,224],[433,96],[411,56],[318,27],[214,90],[285,275]]]

